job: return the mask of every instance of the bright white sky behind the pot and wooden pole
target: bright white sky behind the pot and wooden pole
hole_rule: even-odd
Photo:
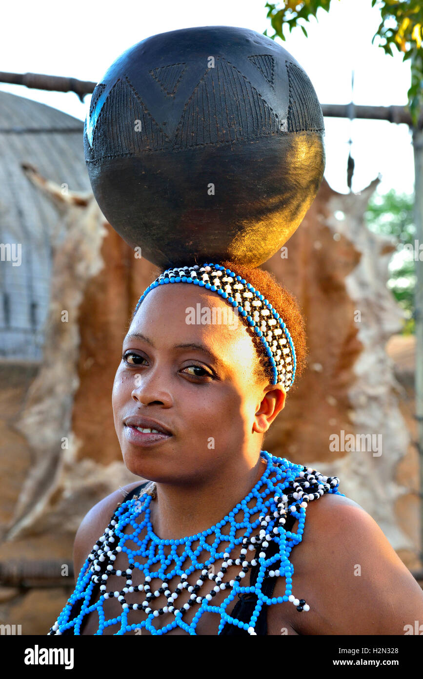
[[[0,69],[14,73],[64,75],[99,82],[108,67],[127,48],[144,38],[191,26],[241,26],[258,33],[273,29],[265,0],[120,0],[94,3],[81,0],[23,0],[2,7]],[[329,12],[286,33],[277,41],[300,63],[313,83],[321,104],[390,106],[407,104],[410,62],[384,53],[371,39],[380,24],[378,6],[371,0],[331,0]],[[0,83],[0,90],[25,96],[84,120],[90,96],[83,103],[73,92],[44,92]],[[349,144],[355,160],[352,189],[359,192],[382,175],[377,193],[391,188],[414,191],[414,156],[407,125],[387,121],[325,117],[325,179],[332,189],[348,193],[346,164]]]

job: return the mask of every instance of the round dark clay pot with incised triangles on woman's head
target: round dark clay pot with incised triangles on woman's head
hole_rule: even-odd
[[[317,194],[323,134],[313,85],[281,45],[201,26],[113,63],[92,95],[85,160],[104,216],[148,261],[258,266]]]

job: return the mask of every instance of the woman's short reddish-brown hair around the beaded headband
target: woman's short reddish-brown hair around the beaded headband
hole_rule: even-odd
[[[270,304],[273,305],[286,323],[296,351],[296,373],[294,384],[290,388],[290,391],[293,391],[298,385],[298,378],[302,375],[304,368],[306,367],[307,357],[305,323],[296,297],[277,281],[275,274],[268,271],[246,264],[239,264],[236,261],[231,261],[229,259],[215,263],[224,266],[226,269],[237,272],[237,275],[241,276],[241,278],[245,278],[248,283],[251,283],[256,290],[259,290],[260,293],[264,295],[265,299],[268,299]],[[189,265],[189,262],[187,265]],[[167,268],[168,267],[158,267],[153,276],[157,278],[160,274],[163,274]],[[264,378],[271,384],[273,382],[273,373],[264,345],[256,333],[251,335],[251,339],[256,347],[257,356],[253,374],[258,380]]]

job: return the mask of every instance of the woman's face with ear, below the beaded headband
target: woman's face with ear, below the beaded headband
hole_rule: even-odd
[[[201,323],[206,308],[214,323]],[[150,291],[123,341],[113,385],[127,469],[157,483],[192,483],[256,464],[285,390],[258,381],[255,361],[247,328],[216,293],[178,284]],[[146,443],[134,428],[140,417],[172,435]]]

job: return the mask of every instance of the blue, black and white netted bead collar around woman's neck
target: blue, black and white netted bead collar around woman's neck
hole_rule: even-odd
[[[73,634],[80,634],[85,615],[96,611],[99,619],[96,634],[99,635],[108,625],[120,626],[117,635],[131,630],[142,631],[144,627],[151,634],[165,634],[177,626],[188,634],[196,635],[201,616],[212,611],[220,614],[218,634],[225,623],[230,623],[242,627],[250,635],[256,635],[254,627],[264,605],[291,602],[299,612],[309,610],[306,601],[296,598],[292,593],[294,566],[289,562],[289,554],[292,547],[302,540],[308,502],[317,500],[325,493],[342,495],[338,490],[339,479],[325,477],[315,469],[294,464],[265,450],[260,452],[260,457],[266,463],[266,469],[251,492],[222,521],[195,535],[178,540],[159,538],[150,523],[153,496],[148,492],[122,502],[85,560],[75,591],[48,634],[62,634],[72,628]],[[243,515],[241,521],[236,520],[239,513]],[[258,517],[254,519],[257,514]],[[284,528],[289,514],[298,519],[296,532]],[[134,529],[133,532],[125,533],[125,528],[129,526]],[[237,535],[240,530],[241,534]],[[212,536],[213,542],[209,536]],[[136,543],[138,549],[127,547],[125,543],[128,541]],[[271,541],[276,544],[277,552],[268,557],[266,547]],[[196,543],[198,547],[193,549]],[[222,543],[226,547],[223,548]],[[238,551],[239,547],[241,549]],[[178,549],[182,553],[178,553]],[[249,551],[256,552],[251,560],[247,559]],[[129,567],[125,570],[114,568],[113,562],[121,552],[126,553],[128,559]],[[199,562],[197,559],[202,553],[208,558]],[[144,560],[140,562],[139,557]],[[217,573],[214,564],[218,565]],[[234,579],[228,581],[226,572],[231,566],[240,566],[241,570]],[[244,587],[241,583],[254,566],[259,566],[256,584]],[[138,585],[134,584],[137,574],[140,574],[141,580]],[[106,583],[110,575],[118,576],[125,582],[120,591],[107,591]],[[285,594],[268,598],[261,591],[265,577],[285,578]],[[178,580],[178,584],[171,591],[169,583],[174,579]],[[157,589],[154,581],[160,585]],[[97,602],[90,604],[92,591],[98,584],[100,597]],[[220,604],[215,604],[214,598],[222,595],[222,591],[227,591],[226,597]],[[134,593],[144,593],[144,601],[128,603],[127,598],[134,598]],[[254,593],[257,598],[248,623],[230,617],[227,612],[230,602],[239,593]],[[117,598],[122,610],[117,617],[106,620],[104,602],[109,598]],[[181,601],[183,598],[186,599],[184,604]],[[155,601],[159,599],[167,600],[167,605],[155,606]],[[70,619],[71,610],[77,602],[82,602],[81,611]],[[184,615],[194,606],[197,606],[197,612],[188,623]],[[143,612],[142,619],[129,623],[128,614],[137,610]],[[172,614],[172,623],[155,626],[153,621],[164,614]]]

